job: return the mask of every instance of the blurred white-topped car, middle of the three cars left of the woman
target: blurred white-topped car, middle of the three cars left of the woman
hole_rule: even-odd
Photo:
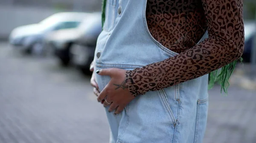
[[[70,48],[87,31],[87,25],[90,25],[95,19],[100,20],[100,18],[101,13],[90,13],[79,27],[54,31],[47,36],[48,48],[54,49],[55,56],[60,59],[62,65],[66,66],[72,60]]]

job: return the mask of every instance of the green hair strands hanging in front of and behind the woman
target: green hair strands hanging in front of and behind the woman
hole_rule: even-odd
[[[103,29],[103,25],[105,22],[106,1],[107,0],[102,1],[102,29]],[[240,61],[242,61],[242,60],[243,59],[240,58]],[[212,89],[212,87],[217,82],[218,84],[221,85],[221,93],[222,93],[222,90],[224,90],[224,93],[227,94],[227,88],[230,85],[229,79],[230,79],[231,74],[235,70],[236,62],[237,61],[234,61],[230,64],[225,65],[224,67],[222,67],[218,70],[215,70],[215,71],[212,71],[211,73],[209,73],[208,89]]]

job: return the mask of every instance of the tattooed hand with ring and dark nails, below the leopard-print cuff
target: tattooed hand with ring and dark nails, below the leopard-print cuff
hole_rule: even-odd
[[[108,68],[97,70],[101,76],[110,76],[111,80],[99,93],[98,101],[103,102],[104,107],[110,106],[108,111],[114,110],[115,114],[119,114],[135,97],[128,90],[127,81],[125,81],[126,70],[118,68]],[[105,101],[104,101],[105,100]]]

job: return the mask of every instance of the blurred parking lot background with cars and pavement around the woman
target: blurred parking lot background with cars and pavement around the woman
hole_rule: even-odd
[[[102,0],[0,0],[0,143],[107,143],[88,70]],[[228,96],[209,90],[204,143],[256,143],[256,1]]]

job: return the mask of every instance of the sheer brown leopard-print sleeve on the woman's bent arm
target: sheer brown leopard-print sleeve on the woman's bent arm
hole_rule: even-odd
[[[241,57],[244,50],[242,0],[201,1],[209,38],[177,56],[128,70],[126,79],[132,95],[198,78]]]

